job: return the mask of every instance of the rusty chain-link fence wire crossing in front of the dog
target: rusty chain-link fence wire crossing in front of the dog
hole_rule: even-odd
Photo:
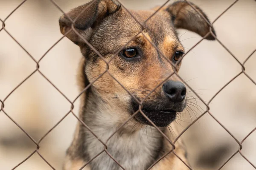
[[[62,9],[61,7],[54,1],[54,0],[50,0],[52,2],[52,5],[54,5],[56,8],[58,8],[65,16],[68,17],[68,19],[72,22],[72,29],[70,29],[65,35],[63,35],[58,41],[56,41],[45,53],[44,55],[38,60],[36,61],[36,59],[15,39],[15,37],[12,36],[12,34],[9,33],[9,31],[6,30],[6,20],[20,7],[22,6],[26,0],[23,0],[13,11],[11,11],[11,13],[4,19],[0,19],[0,21],[2,22],[2,28],[0,28],[0,32],[1,31],[5,31],[9,37],[11,37],[19,46],[20,48],[23,49],[23,51],[26,52],[26,54],[35,62],[35,70],[32,71],[31,74],[29,74],[22,82],[20,82],[11,92],[9,92],[9,94],[3,99],[1,100],[0,99],[0,103],[1,103],[1,108],[0,108],[0,112],[2,111],[13,123],[15,123],[15,125],[17,125],[17,127],[19,127],[25,134],[26,136],[29,137],[29,139],[31,139],[31,141],[35,144],[35,150],[29,155],[26,157],[26,159],[24,159],[23,161],[21,161],[19,164],[17,164],[14,168],[12,168],[12,170],[16,169],[17,167],[20,166],[20,164],[22,164],[23,162],[25,162],[26,160],[28,160],[32,155],[34,155],[35,153],[38,153],[38,155],[49,165],[49,167],[51,167],[53,170],[55,170],[55,168],[49,163],[49,161],[47,161],[42,155],[41,153],[39,152],[39,149],[40,149],[40,143],[41,141],[56,127],[59,125],[60,122],[62,122],[70,113],[73,114],[73,116],[76,117],[76,119],[82,124],[84,125],[84,127],[86,127],[95,137],[96,139],[99,140],[99,142],[102,143],[102,151],[98,154],[96,154],[92,159],[90,159],[89,161],[87,161],[86,164],[84,164],[83,167],[80,168],[80,170],[82,170],[87,164],[89,164],[91,161],[93,161],[93,159],[95,159],[97,156],[99,156],[100,154],[102,153],[106,153],[108,154],[108,156],[110,156],[111,159],[113,159],[113,161],[116,162],[116,164],[118,164],[123,170],[125,170],[124,167],[122,167],[121,164],[119,164],[118,161],[116,161],[116,159],[108,152],[108,145],[106,144],[110,139],[111,137],[122,127],[124,126],[129,120],[131,120],[132,118],[134,118],[134,116],[136,116],[138,113],[141,113],[145,119],[148,120],[148,122],[151,123],[152,126],[154,126],[162,135],[163,137],[172,145],[172,150],[169,150],[166,154],[164,154],[160,159],[158,159],[156,162],[154,162],[154,164],[152,164],[149,168],[151,169],[155,164],[157,164],[157,162],[159,162],[161,159],[163,159],[165,156],[167,156],[169,153],[174,153],[175,156],[177,156],[178,159],[180,159],[184,164],[186,164],[186,166],[190,169],[190,170],[193,170],[192,167],[190,167],[185,161],[183,161],[176,153],[175,153],[175,143],[177,142],[177,140],[183,135],[183,133],[185,133],[186,130],[189,129],[189,127],[191,127],[195,122],[197,122],[199,119],[201,119],[202,116],[204,116],[206,113],[208,113],[212,119],[214,119],[219,125],[221,125],[221,127],[224,128],[224,130],[227,131],[227,133],[229,133],[229,135],[238,143],[238,146],[239,146],[239,149],[233,153],[232,156],[229,157],[229,159],[227,159],[222,165],[221,167],[219,167],[218,170],[220,170],[222,167],[225,166],[225,164],[227,164],[228,161],[230,161],[233,156],[235,156],[237,153],[239,153],[248,163],[250,163],[255,169],[256,169],[256,166],[254,164],[252,164],[252,162],[250,160],[248,160],[244,155],[243,153],[241,152],[242,150],[242,143],[244,142],[244,140],[247,139],[248,136],[250,136],[255,130],[256,128],[254,128],[250,133],[247,134],[247,136],[244,137],[243,140],[241,140],[241,142],[239,142],[238,139],[236,139],[236,137],[218,120],[215,118],[215,116],[213,116],[213,114],[210,112],[210,107],[209,107],[209,104],[212,102],[212,100],[224,89],[226,88],[231,82],[233,82],[234,79],[236,79],[237,77],[239,77],[241,74],[244,74],[248,79],[251,80],[251,82],[253,82],[255,85],[256,85],[256,82],[245,72],[245,66],[244,64],[248,61],[248,59],[256,52],[256,49],[254,51],[252,51],[252,53],[244,60],[243,63],[241,63],[237,57],[232,54],[232,52],[230,50],[228,50],[228,48],[213,34],[212,32],[212,28],[213,28],[213,23],[215,23],[216,20],[218,20],[227,10],[229,10],[234,4],[236,4],[239,0],[236,0],[235,2],[233,2],[230,6],[228,6],[228,8],[226,8],[221,14],[218,15],[218,17],[216,17],[215,20],[213,20],[212,23],[209,23],[208,20],[196,9],[192,6],[191,3],[189,3],[187,0],[184,0],[186,1],[187,3],[189,3],[189,5],[199,14],[201,15],[202,18],[204,18],[204,20],[206,21],[206,23],[209,25],[209,32],[204,36],[202,37],[202,39],[200,41],[198,41],[195,45],[192,46],[192,48],[189,49],[189,51],[186,52],[186,54],[181,57],[181,59],[176,63],[176,64],[173,64],[163,53],[162,51],[160,51],[156,45],[154,45],[153,42],[151,42],[150,40],[148,40],[148,38],[145,36],[145,34],[143,34],[143,29],[144,29],[144,25],[145,23],[150,20],[151,17],[153,17],[161,8],[163,8],[164,6],[166,6],[167,3],[169,3],[170,0],[167,0],[162,6],[160,6],[160,8],[158,8],[154,14],[152,14],[150,17],[148,17],[147,20],[145,20],[143,23],[140,23],[132,14],[131,12],[125,8],[125,6],[119,1],[119,0],[116,0],[116,2],[118,2],[122,8],[124,8],[128,14],[131,15],[131,17],[134,18],[134,20],[141,26],[141,30],[134,36],[137,37],[138,34],[142,34],[147,40],[148,42],[151,43],[151,45],[173,66],[176,68],[177,64],[190,52],[192,51],[193,48],[195,48],[199,43],[201,43],[209,34],[211,34],[213,37],[215,37],[215,39],[217,40],[217,42],[219,42],[219,44],[236,60],[236,62],[239,63],[239,65],[241,65],[241,72],[239,74],[237,74],[236,76],[233,77],[233,79],[231,79],[230,81],[228,81],[214,96],[212,96],[212,98],[209,100],[209,102],[205,102],[203,99],[201,99],[201,97],[177,74],[177,70],[175,70],[172,74],[170,74],[165,80],[163,80],[161,83],[159,83],[153,90],[151,90],[147,96],[145,96],[145,98],[142,100],[142,101],[139,101],[133,94],[131,94],[110,72],[109,72],[109,62],[111,62],[111,60],[117,55],[119,54],[120,51],[122,51],[122,49],[125,47],[125,45],[127,45],[129,42],[131,42],[133,39],[131,39],[129,42],[127,42],[125,45],[123,45],[121,48],[119,48],[119,50],[117,50],[115,53],[114,53],[114,56],[107,62],[104,57],[98,52],[96,51],[95,48],[93,48],[93,46],[87,41],[84,39],[84,37],[82,37],[78,31],[76,31],[76,28],[74,26],[76,20],[79,18],[80,15],[82,15],[84,13],[84,11],[87,10],[87,8],[90,8],[90,5],[87,6],[86,8],[84,8],[84,10],[75,18],[75,20],[72,20]],[[255,0],[256,1],[256,0]],[[93,0],[93,2],[96,2],[96,0]],[[92,4],[92,3],[91,3]],[[56,45],[58,44],[58,42],[60,42],[67,34],[69,34],[70,31],[74,31],[82,40],[84,40],[84,42],[96,53],[98,54],[99,57],[101,57],[101,59],[106,63],[106,70],[100,74],[96,79],[93,80],[93,82],[90,82],[89,85],[87,85],[86,88],[84,88],[78,96],[76,96],[75,99],[73,100],[70,100],[68,99],[67,96],[65,96],[59,89],[58,87],[56,87],[40,70],[40,65],[39,63],[41,62],[41,60],[44,58],[44,56]],[[70,111],[68,111],[51,129],[49,129],[47,131],[47,133],[41,137],[41,139],[39,139],[38,141],[35,141],[35,139],[32,138],[32,136],[29,135],[29,133],[26,132],[26,130],[24,130],[20,125],[18,125],[17,122],[15,122],[14,119],[12,119],[11,116],[9,116],[8,113],[6,113],[6,111],[4,110],[5,108],[5,105],[4,105],[4,102],[6,101],[6,99],[9,98],[9,96],[17,89],[19,88],[24,82],[26,82],[27,79],[29,79],[33,74],[35,74],[35,72],[38,72],[39,74],[41,74],[42,77],[44,77],[44,79],[46,79],[69,103],[70,103]],[[116,131],[114,133],[111,134],[111,136],[109,136],[109,138],[106,140],[106,141],[102,141],[100,139],[100,136],[96,136],[95,133],[93,133],[93,131],[90,129],[90,127],[88,127],[81,119],[79,119],[79,117],[76,116],[76,114],[73,112],[73,109],[74,109],[74,102],[76,102],[76,100],[79,98],[79,96],[81,96],[85,91],[87,91],[87,89],[93,85],[94,82],[96,82],[100,77],[102,77],[104,74],[109,74],[117,83],[119,83],[119,85],[124,88],[124,90],[129,94],[131,95],[131,97],[134,98],[134,100],[138,103],[139,105],[139,110],[137,110],[132,116],[130,116],[129,119],[127,119],[125,122],[122,123],[122,125],[120,125]],[[201,100],[201,102],[204,103],[205,107],[206,107],[206,111],[204,111],[204,113],[202,113],[200,116],[198,116],[193,122],[191,122],[178,136],[177,138],[174,140],[174,141],[171,141],[160,129],[159,127],[157,127],[156,125],[154,125],[154,123],[145,115],[145,113],[143,113],[142,111],[142,108],[143,108],[143,102],[145,101],[145,99],[151,94],[153,93],[160,85],[162,85],[167,79],[169,79],[169,77],[172,77],[173,75],[176,75],[179,79],[181,79],[181,81],[186,84],[186,86],[188,86],[191,91],[198,97],[198,99]]]

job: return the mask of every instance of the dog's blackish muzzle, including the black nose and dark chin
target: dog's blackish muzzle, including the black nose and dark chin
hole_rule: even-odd
[[[181,82],[169,80],[163,84],[165,97],[155,99],[154,102],[143,102],[142,112],[158,127],[166,127],[173,122],[177,112],[182,112],[186,107],[186,87]],[[132,99],[132,112],[139,110],[139,105]],[[137,113],[135,119],[143,124],[151,123]]]

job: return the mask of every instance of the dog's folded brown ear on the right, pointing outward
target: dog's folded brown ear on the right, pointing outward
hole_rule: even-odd
[[[209,22],[207,15],[201,10],[201,8],[193,3],[191,3],[191,5],[197,9],[201,15],[204,16],[204,18]],[[209,32],[210,26],[207,24],[204,18],[198,14],[197,11],[195,11],[194,8],[192,8],[189,3],[185,1],[177,1],[168,6],[166,11],[171,14],[172,22],[175,28],[187,29],[201,35],[201,37],[204,37]],[[212,32],[214,35],[216,35],[213,28]],[[206,39],[215,40],[212,34],[209,34]]]

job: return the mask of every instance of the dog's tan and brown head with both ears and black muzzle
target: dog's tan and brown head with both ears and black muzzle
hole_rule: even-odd
[[[139,105],[125,88],[140,101],[147,96],[143,102],[143,113],[155,125],[167,126],[186,106],[186,87],[173,74],[179,70],[180,58],[184,54],[175,30],[184,28],[205,36],[207,40],[215,38],[208,34],[210,26],[204,20],[208,20],[207,16],[194,4],[190,6],[178,1],[154,14],[156,10],[131,10],[131,16],[113,0],[94,0],[67,13],[72,20],[76,19],[73,25],[76,31],[73,31],[72,22],[66,15],[60,18],[59,23],[61,33],[79,45],[85,57],[87,80],[93,82],[101,76],[92,88],[103,100],[108,102],[112,99],[111,105],[134,113]],[[142,31],[140,23],[144,22]],[[213,28],[212,32],[215,34]],[[135,119],[149,124],[140,113]]]

